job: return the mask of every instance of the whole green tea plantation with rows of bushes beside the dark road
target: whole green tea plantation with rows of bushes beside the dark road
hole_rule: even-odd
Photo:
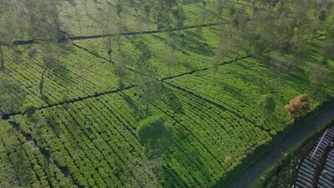
[[[24,145],[20,155],[16,155],[18,150],[8,150],[0,160],[19,169],[15,159],[27,154],[29,159],[22,158],[21,165],[27,169],[22,171],[26,177],[20,179],[30,179],[30,187],[71,186],[58,166],[79,187],[211,187],[289,125],[283,106],[310,85],[305,74],[310,62],[305,61],[333,66],[329,29],[325,45],[313,38],[330,26],[330,20],[319,21],[318,9],[303,1],[288,1],[289,6],[280,2],[275,9],[277,1],[265,1],[268,6],[257,1],[253,5],[247,1],[48,1],[45,10],[40,5],[30,7],[36,2],[18,11],[29,18],[4,15],[11,2],[0,4],[4,25],[0,33],[10,39],[4,41],[5,37],[2,43],[10,44],[15,38],[39,39],[44,44],[0,49],[4,70],[12,73],[9,80],[14,86],[8,88],[15,91],[15,100],[26,100],[34,108],[48,106],[33,115],[34,121],[29,113],[15,116],[19,129],[34,142],[26,144],[23,135],[1,132],[4,147],[13,140],[19,151]],[[330,16],[328,9],[326,14]],[[31,24],[34,16],[41,17]],[[216,22],[224,24],[214,26]],[[207,23],[212,24],[203,26]],[[19,24],[22,29],[16,27]],[[17,32],[7,32],[11,26]],[[170,28],[173,31],[164,33]],[[76,40],[74,46],[53,50],[48,45],[58,41],[58,31],[94,39]],[[112,35],[95,38],[101,34]],[[251,58],[253,53],[263,57],[264,51],[265,61]],[[269,61],[277,53],[288,60]],[[298,56],[298,63],[290,56]],[[44,73],[41,99],[38,80]],[[333,78],[328,77],[312,96],[314,108],[332,94]],[[262,93],[276,93],[277,108],[258,127],[260,117],[254,109]],[[272,111],[268,98],[260,103],[263,115]],[[9,108],[9,103],[1,105]],[[19,108],[16,105],[12,111],[19,112]],[[150,114],[154,115],[138,122]],[[175,144],[168,147],[171,140]],[[48,156],[39,155],[39,148]],[[155,157],[166,162],[166,167],[151,160]],[[162,174],[163,179],[159,178]]]

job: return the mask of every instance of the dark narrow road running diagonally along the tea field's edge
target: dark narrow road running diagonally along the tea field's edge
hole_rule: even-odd
[[[315,117],[311,117],[308,123],[300,125],[299,127],[286,132],[283,137],[275,140],[270,148],[266,149],[265,152],[260,154],[253,162],[246,164],[243,169],[241,169],[235,177],[233,177],[228,184],[222,184],[223,182],[218,182],[215,187],[248,187],[261,173],[264,172],[273,162],[278,160],[283,152],[286,152],[290,147],[292,147],[296,142],[306,137],[311,132],[313,132],[320,125],[334,117],[334,103],[320,112]]]

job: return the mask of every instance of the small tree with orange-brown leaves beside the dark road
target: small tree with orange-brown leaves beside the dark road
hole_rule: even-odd
[[[288,105],[285,105],[285,110],[288,114],[296,118],[303,113],[306,113],[310,109],[310,103],[308,101],[308,94],[298,95],[296,98],[290,100]]]

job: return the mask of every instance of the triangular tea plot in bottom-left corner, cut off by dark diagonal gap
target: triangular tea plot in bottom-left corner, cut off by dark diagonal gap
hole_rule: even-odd
[[[26,140],[1,120],[0,140],[1,187],[71,187],[69,178],[56,165],[48,164],[34,140]]]

